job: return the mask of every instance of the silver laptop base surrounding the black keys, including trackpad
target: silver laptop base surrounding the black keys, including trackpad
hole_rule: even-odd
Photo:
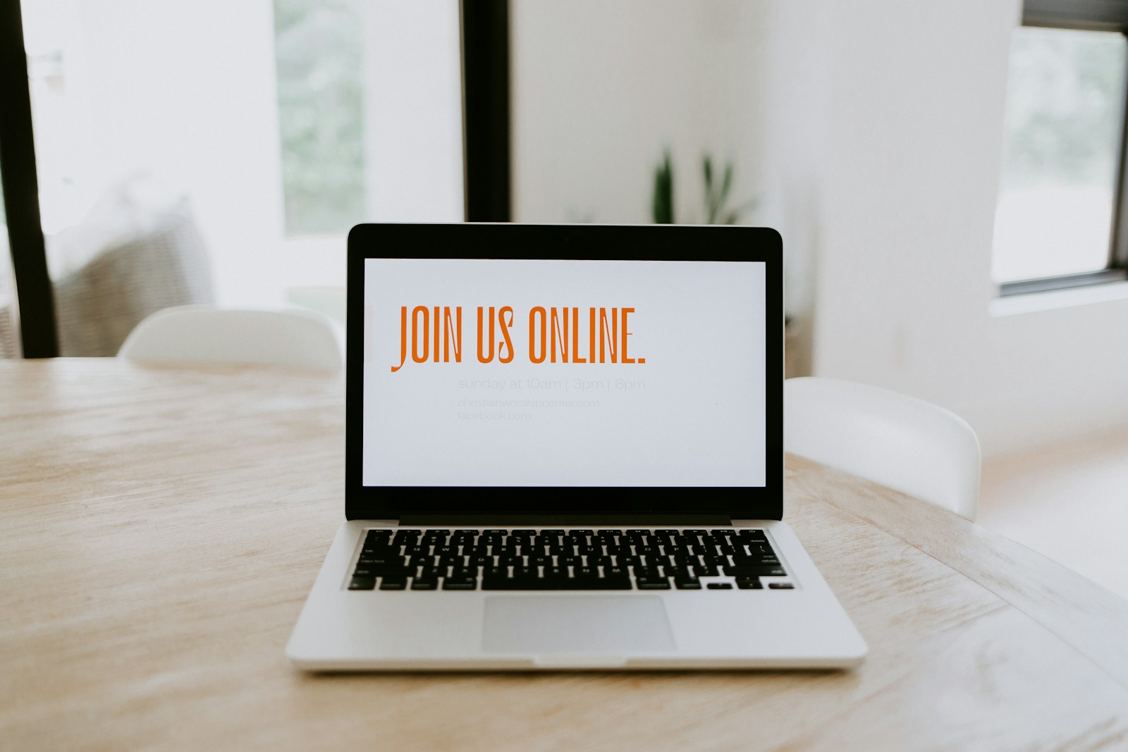
[[[731,577],[719,575],[703,577],[705,586],[695,591],[350,591],[368,531],[397,525],[346,522],[287,655],[307,671],[856,665],[865,643],[790,528],[777,521],[734,527],[765,531],[792,589],[740,590],[731,586]],[[714,581],[730,587],[710,589]]]

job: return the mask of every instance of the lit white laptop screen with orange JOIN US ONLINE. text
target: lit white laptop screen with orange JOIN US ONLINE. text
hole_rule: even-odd
[[[758,260],[364,258],[363,485],[763,488],[767,308]]]

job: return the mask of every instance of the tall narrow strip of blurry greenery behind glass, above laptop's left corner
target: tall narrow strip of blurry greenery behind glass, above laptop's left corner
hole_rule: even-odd
[[[362,0],[274,0],[285,231],[364,215]]]

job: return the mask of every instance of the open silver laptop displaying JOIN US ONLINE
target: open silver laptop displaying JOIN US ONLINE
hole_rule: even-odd
[[[848,667],[783,522],[783,267],[746,227],[362,224],[311,671]]]

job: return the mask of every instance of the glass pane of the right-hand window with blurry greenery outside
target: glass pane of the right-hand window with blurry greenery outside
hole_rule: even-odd
[[[1109,265],[1128,43],[1116,32],[1020,27],[1011,44],[992,277]]]

